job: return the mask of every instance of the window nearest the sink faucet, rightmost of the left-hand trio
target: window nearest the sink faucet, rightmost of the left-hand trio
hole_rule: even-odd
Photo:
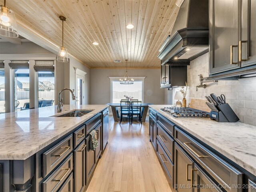
[[[54,105],[54,72],[38,72],[38,107]]]

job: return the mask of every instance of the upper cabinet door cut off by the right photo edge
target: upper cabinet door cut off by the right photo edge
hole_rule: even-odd
[[[242,67],[256,65],[256,1],[242,0],[239,56]]]

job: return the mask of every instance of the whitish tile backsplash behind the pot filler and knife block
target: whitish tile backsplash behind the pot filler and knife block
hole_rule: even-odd
[[[190,62],[188,66],[189,93],[187,102],[193,99],[205,100],[204,96],[215,93],[217,96],[224,94],[226,102],[240,118],[240,122],[256,126],[256,77],[240,80],[219,80],[206,82],[207,87],[198,88],[200,84],[198,75],[207,77],[209,72],[209,54],[204,54]]]

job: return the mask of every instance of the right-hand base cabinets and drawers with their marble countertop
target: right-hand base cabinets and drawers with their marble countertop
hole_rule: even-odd
[[[164,107],[149,106],[150,141],[172,187],[203,181],[230,192],[256,189],[256,126],[174,118]]]

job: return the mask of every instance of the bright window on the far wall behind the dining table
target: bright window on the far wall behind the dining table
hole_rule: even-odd
[[[143,80],[134,80],[134,84],[122,85],[117,80],[112,80],[112,103],[120,103],[124,95],[133,97],[143,102]]]

